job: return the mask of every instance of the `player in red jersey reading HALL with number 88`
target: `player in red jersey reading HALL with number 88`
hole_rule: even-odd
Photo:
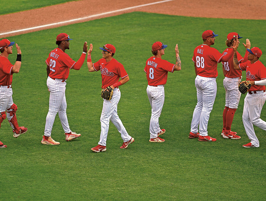
[[[216,141],[208,135],[207,126],[217,92],[217,63],[227,62],[233,56],[232,48],[228,48],[227,54],[221,54],[217,49],[210,47],[214,44],[216,36],[218,35],[212,30],[203,32],[203,44],[195,48],[192,58],[196,73],[195,86],[198,101],[193,112],[189,138],[198,137],[199,141]]]

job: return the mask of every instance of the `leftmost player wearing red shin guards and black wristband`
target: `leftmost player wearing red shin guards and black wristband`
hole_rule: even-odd
[[[15,42],[10,42],[8,39],[2,39],[0,41],[0,127],[4,119],[8,119],[10,126],[13,129],[13,137],[18,137],[21,134],[27,132],[27,128],[19,127],[17,123],[17,105],[13,103],[12,99],[12,77],[13,73],[18,73],[21,67],[21,51],[20,46],[16,43],[17,48],[17,61],[14,65],[8,60],[9,54],[12,54],[12,48]],[[7,110],[7,114],[6,114]],[[0,141],[0,148],[5,148]]]

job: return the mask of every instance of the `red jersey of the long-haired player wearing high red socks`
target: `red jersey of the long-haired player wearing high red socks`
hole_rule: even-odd
[[[223,54],[227,54],[228,50],[229,49],[226,48],[226,50],[223,51]],[[239,52],[236,52],[236,56],[238,62],[241,63],[241,61],[243,61],[243,57],[239,54]],[[222,64],[226,72],[226,77],[233,78],[242,76],[241,70],[234,69],[233,56],[227,62],[222,62]]]

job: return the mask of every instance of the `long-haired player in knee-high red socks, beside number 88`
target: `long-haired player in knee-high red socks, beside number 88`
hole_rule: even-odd
[[[226,45],[227,47],[235,46],[236,43],[239,43],[240,37],[238,33],[231,32],[227,35]],[[246,39],[246,44],[243,43],[245,48],[250,48],[250,42],[249,39]],[[223,54],[227,54],[228,48],[223,52]],[[246,54],[243,57],[237,52],[237,60],[239,63],[243,63],[247,61],[247,55],[248,51],[246,51]],[[225,96],[225,108],[223,110],[223,131],[221,133],[221,136],[223,138],[227,139],[240,139],[241,137],[236,135],[236,132],[231,131],[231,125],[234,118],[234,114],[236,112],[236,109],[238,107],[238,103],[240,100],[240,91],[238,90],[238,84],[241,82],[242,78],[242,71],[234,69],[233,65],[233,56],[227,61],[222,62],[223,65],[223,74],[224,74],[224,80],[223,80],[223,86],[226,91]]]

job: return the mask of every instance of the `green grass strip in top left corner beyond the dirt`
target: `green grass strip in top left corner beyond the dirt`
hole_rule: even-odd
[[[75,0],[45,0],[45,1],[33,1],[33,0],[9,0],[2,1],[0,7],[0,15],[20,12],[24,10],[30,10],[35,8],[41,8],[46,6],[52,6],[56,4],[62,4],[68,1]]]

